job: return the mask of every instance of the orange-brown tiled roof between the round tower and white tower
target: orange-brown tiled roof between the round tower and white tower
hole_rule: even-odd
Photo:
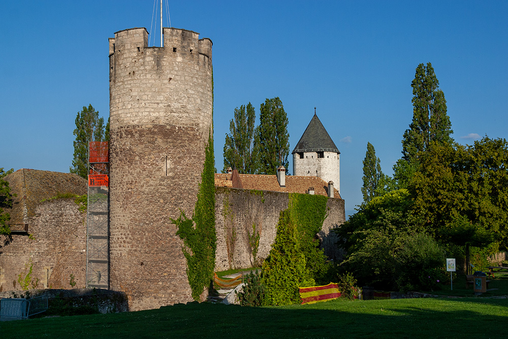
[[[233,172],[234,173],[234,172]],[[220,184],[222,182],[231,180],[231,174],[216,173],[215,186],[224,187],[237,187],[235,184],[227,186]],[[287,192],[287,193],[307,193],[310,187],[314,188],[314,194],[328,196],[328,183],[317,176],[300,176],[300,175],[287,175],[285,177],[285,187],[280,187],[276,175],[264,174],[238,174],[242,188],[245,190],[260,190],[260,191],[274,191],[274,192]],[[229,184],[228,184],[229,185]],[[334,198],[341,199],[339,192],[334,188]]]

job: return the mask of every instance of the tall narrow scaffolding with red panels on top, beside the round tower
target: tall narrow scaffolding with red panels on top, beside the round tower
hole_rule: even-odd
[[[109,146],[88,145],[86,288],[109,288]]]

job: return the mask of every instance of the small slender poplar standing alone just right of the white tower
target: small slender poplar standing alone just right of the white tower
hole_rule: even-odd
[[[381,162],[376,157],[376,150],[370,142],[367,142],[367,152],[363,160],[363,202],[367,203],[376,196],[379,191],[379,185],[383,184],[383,171],[381,170]]]

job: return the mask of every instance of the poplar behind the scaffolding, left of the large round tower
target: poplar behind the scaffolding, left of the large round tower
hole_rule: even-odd
[[[88,174],[88,142],[104,140],[104,118],[99,117],[99,112],[92,105],[83,106],[76,116],[76,128],[73,134],[74,158],[72,160],[71,173],[76,173],[86,179]]]

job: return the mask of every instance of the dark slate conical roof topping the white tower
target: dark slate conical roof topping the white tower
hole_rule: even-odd
[[[340,153],[325,127],[321,124],[320,119],[314,113],[314,116],[309,122],[309,126],[307,126],[307,129],[303,132],[300,141],[298,141],[292,153],[321,151]]]

